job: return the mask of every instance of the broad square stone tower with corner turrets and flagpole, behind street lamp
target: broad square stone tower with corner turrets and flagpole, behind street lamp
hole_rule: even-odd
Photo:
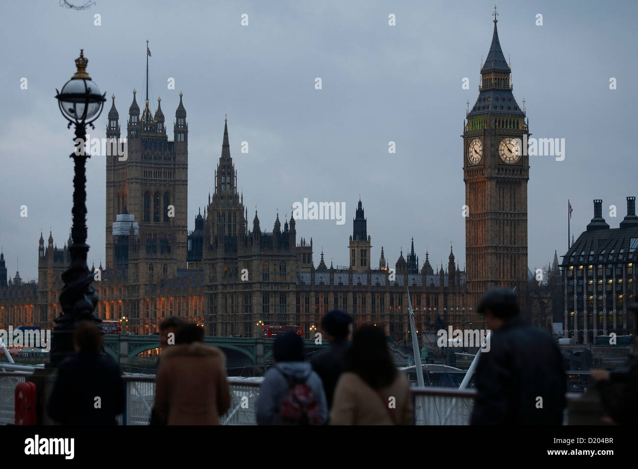
[[[126,156],[106,157],[107,269],[128,265],[133,270],[132,277],[142,281],[174,277],[177,269],[186,269],[188,123],[182,96],[179,93],[174,140],[170,141],[161,98],[153,116],[147,86],[140,119],[134,89],[126,131]],[[112,100],[107,137],[119,138],[115,96]]]

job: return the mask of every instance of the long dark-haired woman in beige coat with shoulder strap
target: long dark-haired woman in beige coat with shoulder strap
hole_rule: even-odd
[[[409,425],[414,421],[408,377],[397,370],[383,331],[355,332],[346,372],[337,382],[330,425]]]

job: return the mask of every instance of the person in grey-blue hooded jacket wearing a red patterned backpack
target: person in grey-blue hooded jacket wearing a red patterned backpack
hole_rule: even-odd
[[[287,332],[272,345],[269,369],[256,402],[258,425],[323,425],[328,407],[319,375],[305,362],[304,341]]]

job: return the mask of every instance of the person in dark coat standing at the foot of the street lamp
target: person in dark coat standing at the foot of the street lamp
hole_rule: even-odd
[[[120,369],[102,353],[102,331],[80,322],[73,335],[77,355],[64,360],[48,399],[48,415],[63,425],[115,425],[124,412],[126,385]]]

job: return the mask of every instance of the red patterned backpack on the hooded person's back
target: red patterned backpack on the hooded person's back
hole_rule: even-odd
[[[288,391],[279,406],[279,425],[323,425],[319,403],[307,378],[286,375],[275,367],[288,382]],[[309,376],[309,375],[308,375]]]

